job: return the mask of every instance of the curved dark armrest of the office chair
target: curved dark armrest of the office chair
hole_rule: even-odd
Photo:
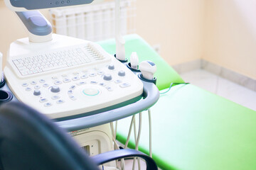
[[[91,158],[95,161],[96,164],[100,165],[105,164],[106,162],[114,161],[116,159],[123,159],[128,157],[140,157],[146,162],[146,170],[157,170],[156,163],[153,159],[151,159],[151,157],[134,149],[114,150],[102,154],[97,154]]]

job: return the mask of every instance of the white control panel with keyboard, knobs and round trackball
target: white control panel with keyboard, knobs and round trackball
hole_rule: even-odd
[[[21,42],[11,46],[20,49],[21,55],[9,56],[4,74],[18,100],[50,118],[63,118],[142,95],[142,81],[102,47],[62,35],[58,38],[61,41],[49,43],[46,52],[21,51]],[[18,54],[11,50],[10,54]]]

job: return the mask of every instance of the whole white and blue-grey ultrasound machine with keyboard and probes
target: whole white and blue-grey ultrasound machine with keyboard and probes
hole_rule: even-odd
[[[90,155],[113,150],[110,123],[150,108],[159,98],[156,64],[128,62],[119,33],[116,54],[95,42],[52,33],[38,10],[90,4],[93,0],[5,0],[21,19],[28,38],[11,43],[1,77],[0,102],[21,101],[53,119]],[[113,162],[109,166],[116,166]]]

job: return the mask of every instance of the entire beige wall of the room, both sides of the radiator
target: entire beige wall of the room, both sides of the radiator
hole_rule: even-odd
[[[203,58],[256,79],[255,0],[137,0],[137,33],[169,64]],[[43,11],[48,18],[47,11]],[[0,0],[0,51],[26,37]]]

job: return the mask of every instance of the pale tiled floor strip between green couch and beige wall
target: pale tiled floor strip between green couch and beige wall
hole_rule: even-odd
[[[218,77],[203,69],[183,73],[181,77],[186,82],[256,111],[256,91],[252,91],[232,81]]]

